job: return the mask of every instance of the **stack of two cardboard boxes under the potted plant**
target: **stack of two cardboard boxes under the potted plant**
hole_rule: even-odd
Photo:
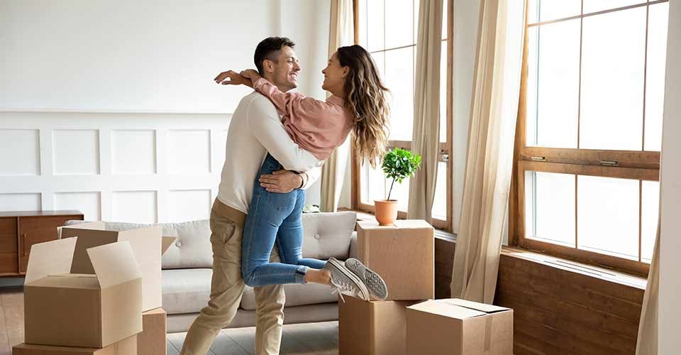
[[[388,287],[384,301],[344,296],[338,302],[338,352],[341,355],[406,354],[406,307],[433,298],[433,226],[422,220],[357,224],[360,261]]]

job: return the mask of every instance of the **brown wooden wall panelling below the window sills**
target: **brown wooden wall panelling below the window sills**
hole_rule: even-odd
[[[435,243],[436,298],[450,297],[455,243]],[[644,290],[502,253],[494,304],[514,309],[516,355],[636,353]]]

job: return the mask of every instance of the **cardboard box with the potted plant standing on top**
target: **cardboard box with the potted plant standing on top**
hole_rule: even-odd
[[[420,219],[398,219],[392,226],[357,222],[359,258],[388,286],[387,300],[435,298],[435,235]]]

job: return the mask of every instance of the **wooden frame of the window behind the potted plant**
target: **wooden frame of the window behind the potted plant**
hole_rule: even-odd
[[[444,0],[446,1],[447,4],[447,15],[448,15],[448,21],[447,21],[447,72],[446,72],[446,77],[447,77],[447,84],[446,84],[446,90],[447,90],[447,102],[446,102],[446,120],[447,120],[447,142],[446,143],[440,143],[440,153],[438,155],[438,162],[445,162],[447,163],[447,175],[446,175],[446,190],[447,190],[447,201],[446,203],[446,219],[432,219],[432,224],[434,227],[437,229],[442,229],[443,231],[452,231],[452,222],[453,222],[453,183],[452,183],[452,155],[450,152],[452,151],[452,137],[453,137],[453,40],[452,38],[454,37],[454,2],[453,0]],[[359,16],[359,0],[354,0],[353,1],[353,6],[354,6],[354,26],[355,26],[355,44],[360,44],[360,16]],[[415,9],[418,11],[418,9]],[[415,28],[416,31],[416,28]],[[443,40],[444,41],[444,40]],[[414,45],[415,47],[416,45]],[[406,48],[406,47],[411,47],[411,45],[408,46],[401,46],[399,48]],[[394,49],[399,49],[399,48],[386,48],[385,50],[382,50],[382,52],[387,51],[387,50],[394,50]],[[409,149],[411,150],[411,141],[389,141],[388,142],[389,149],[392,148],[404,148],[404,149]],[[353,152],[353,156],[354,152]],[[449,158],[445,160],[445,156],[448,156]],[[351,164],[351,176],[352,176],[352,195],[351,195],[351,204],[353,209],[362,211],[362,212],[367,212],[374,214],[375,213],[375,207],[373,204],[365,204],[362,202],[362,190],[361,190],[361,184],[360,184],[360,173],[362,170],[362,162],[357,160],[357,159],[352,159],[352,164]],[[397,212],[397,218],[399,219],[406,219],[407,214],[406,211],[400,210]]]

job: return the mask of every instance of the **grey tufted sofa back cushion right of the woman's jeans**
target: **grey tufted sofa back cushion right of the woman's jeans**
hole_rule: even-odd
[[[303,214],[303,257],[348,258],[356,220],[355,212]]]

